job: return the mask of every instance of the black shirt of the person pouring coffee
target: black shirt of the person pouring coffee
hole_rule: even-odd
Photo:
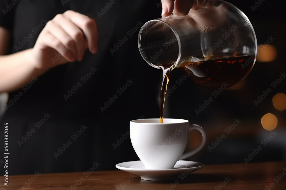
[[[126,135],[129,121],[158,118],[161,72],[144,62],[137,37],[161,10],[144,1],[15,2],[4,15],[11,1],[1,1],[0,25],[12,34],[10,53],[33,48],[45,23],[66,10],[95,19],[99,50],[87,50],[82,62],[52,68],[9,94],[0,124],[1,139],[9,124],[9,174],[85,171],[94,162],[98,170],[116,169],[117,163],[139,160]]]

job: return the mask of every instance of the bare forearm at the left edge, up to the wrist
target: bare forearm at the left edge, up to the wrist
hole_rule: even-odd
[[[32,49],[10,55],[0,56],[0,93],[11,92],[39,77],[47,69],[35,68]]]

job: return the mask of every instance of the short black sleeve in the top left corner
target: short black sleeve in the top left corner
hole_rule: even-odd
[[[17,3],[19,3],[19,0],[0,0],[0,26],[12,30]]]

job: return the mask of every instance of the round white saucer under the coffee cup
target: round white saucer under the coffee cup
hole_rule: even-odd
[[[173,169],[146,169],[142,161],[122,162],[116,164],[118,169],[140,175],[141,179],[150,181],[167,181],[186,177],[190,172],[204,167],[204,164],[186,160],[179,160]],[[182,177],[181,177],[182,178]]]

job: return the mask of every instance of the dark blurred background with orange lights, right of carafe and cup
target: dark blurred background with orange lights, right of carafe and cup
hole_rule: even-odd
[[[198,116],[194,110],[208,97],[212,97],[211,94],[216,89],[201,87],[191,80],[186,80],[167,98],[165,113],[168,113],[168,117],[188,119],[206,130],[208,148],[205,147],[205,151],[192,156],[190,160],[212,164],[245,162],[244,158],[249,157],[248,154],[258,146],[261,146],[262,150],[250,162],[285,160],[286,81],[282,80],[277,86],[271,86],[271,83],[286,71],[283,60],[286,50],[283,32],[286,21],[285,2],[228,2],[236,5],[247,15],[255,30],[259,55],[251,73],[235,86],[223,90]],[[253,8],[255,3],[259,5],[257,9]],[[268,44],[267,40],[271,37],[275,39]],[[170,86],[174,84],[172,78],[180,78],[180,71],[174,70],[171,74]],[[263,91],[267,91],[268,88],[272,91],[261,103],[256,103],[256,106],[254,100],[257,101],[258,96],[261,97]],[[225,131],[233,125],[235,119],[241,122],[232,131]],[[262,142],[264,139],[267,141],[271,130],[278,134],[274,138],[268,138],[271,139],[269,143]],[[218,144],[218,141],[215,141],[222,134],[226,137]],[[194,138],[197,138],[195,134]],[[200,139],[194,141],[199,142]]]

